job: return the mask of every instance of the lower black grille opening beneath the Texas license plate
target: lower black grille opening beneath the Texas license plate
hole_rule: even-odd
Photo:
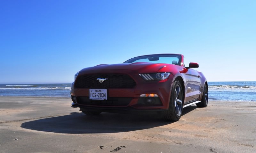
[[[78,104],[92,106],[127,106],[131,100],[132,98],[111,97],[107,100],[90,100],[89,97],[76,97]]]

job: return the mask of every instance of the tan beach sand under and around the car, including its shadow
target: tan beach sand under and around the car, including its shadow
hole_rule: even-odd
[[[256,102],[209,101],[166,122],[155,115],[86,116],[70,98],[0,97],[0,152],[255,153],[255,118]]]

